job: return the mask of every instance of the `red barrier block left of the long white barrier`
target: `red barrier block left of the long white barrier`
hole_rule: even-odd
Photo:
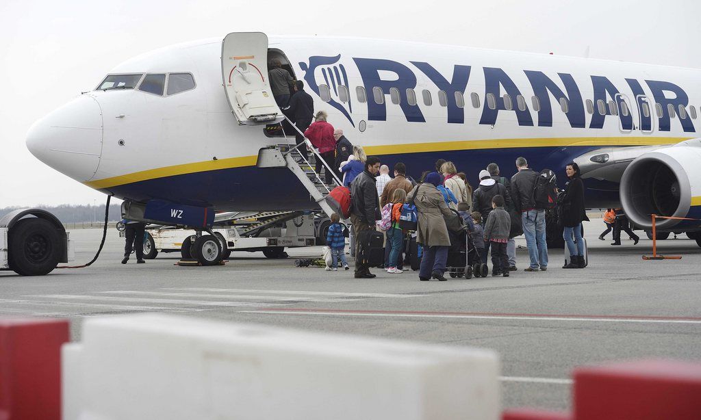
[[[0,319],[0,420],[60,420],[68,321]]]

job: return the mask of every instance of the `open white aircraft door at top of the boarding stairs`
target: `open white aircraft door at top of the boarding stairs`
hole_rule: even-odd
[[[268,36],[233,32],[222,43],[226,98],[238,123],[274,124],[285,119],[268,82]]]

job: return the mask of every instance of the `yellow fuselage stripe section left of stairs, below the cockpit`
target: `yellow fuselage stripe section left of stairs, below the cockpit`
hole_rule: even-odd
[[[207,160],[205,162],[186,163],[184,165],[173,165],[158,169],[148,169],[146,171],[134,172],[132,174],[113,176],[111,178],[98,179],[97,181],[88,181],[85,184],[90,188],[99,190],[100,188],[121,186],[133,182],[148,181],[149,179],[164,178],[165,176],[194,174],[196,172],[216,171],[217,169],[254,166],[257,162],[257,155],[242,156],[240,158]]]

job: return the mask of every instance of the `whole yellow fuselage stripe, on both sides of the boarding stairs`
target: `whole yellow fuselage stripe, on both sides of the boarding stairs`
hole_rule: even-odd
[[[564,147],[564,146],[653,146],[655,144],[676,144],[690,137],[565,137],[542,139],[496,139],[496,140],[465,140],[437,141],[432,143],[407,143],[383,146],[367,146],[367,155],[400,155],[404,153],[465,151],[492,148],[530,148],[530,147]],[[113,176],[86,182],[86,186],[95,189],[121,186],[128,183],[148,181],[196,172],[215,171],[256,165],[257,156],[242,156],[206,162],[186,163],[158,169],[134,172],[132,174]]]

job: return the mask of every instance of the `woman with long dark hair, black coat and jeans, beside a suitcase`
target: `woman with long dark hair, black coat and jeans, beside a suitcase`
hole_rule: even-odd
[[[569,264],[562,268],[584,268],[586,263],[582,221],[589,221],[584,207],[584,183],[579,165],[575,162],[568,163],[565,172],[569,181],[565,185],[565,194],[562,199],[562,225],[564,226],[562,237],[565,239],[571,258]]]

